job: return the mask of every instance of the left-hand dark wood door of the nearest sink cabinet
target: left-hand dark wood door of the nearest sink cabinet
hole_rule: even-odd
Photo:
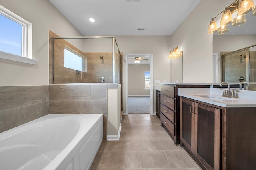
[[[194,102],[180,99],[180,137],[182,145],[194,153]]]

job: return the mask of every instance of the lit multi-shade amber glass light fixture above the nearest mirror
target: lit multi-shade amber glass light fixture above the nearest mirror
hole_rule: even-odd
[[[253,16],[256,16],[256,6],[254,6],[254,3],[252,0],[236,0],[233,2],[230,6],[226,7],[220,14],[222,14],[221,20],[220,20],[220,27],[216,28],[217,25],[214,18],[210,21],[210,24],[208,26],[208,34],[214,34],[218,32],[218,34],[224,34],[229,31],[228,25],[232,23],[232,26],[240,26],[244,23],[246,23],[246,18],[244,15],[249,14],[253,11]],[[237,17],[232,19],[232,15],[236,14]]]

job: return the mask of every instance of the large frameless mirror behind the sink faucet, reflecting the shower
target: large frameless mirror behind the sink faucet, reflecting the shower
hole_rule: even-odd
[[[252,16],[252,12],[246,15],[246,20],[247,22],[243,25],[233,27],[232,25],[228,25],[229,32],[226,34],[222,35],[213,35],[213,57],[214,57],[214,83],[220,83],[223,79],[221,78],[222,75],[222,70],[225,70],[227,68],[223,68],[225,64],[222,64],[221,61],[221,55],[225,53],[230,53],[232,51],[237,51],[238,49],[242,49],[245,47],[249,47],[252,45],[256,44],[256,16]],[[256,47],[250,48],[250,51],[255,53]],[[241,51],[240,51],[241,52]],[[242,53],[241,53],[242,54]],[[233,57],[229,56],[230,59],[228,59],[229,64],[233,64],[233,68],[236,68],[234,72],[230,72],[229,74],[225,74],[225,79],[226,81],[232,81],[231,79],[236,79],[233,82],[239,82],[238,77],[234,78],[234,74],[238,74],[238,68],[244,69],[244,65],[246,65],[246,60],[247,58],[243,58],[240,53],[237,55],[232,55]],[[234,57],[236,56],[236,57]],[[241,59],[242,58],[242,62]],[[252,57],[255,58],[255,57]],[[249,58],[248,58],[249,59]],[[233,62],[233,63],[232,63]],[[236,63],[236,64],[235,64]],[[253,62],[253,59],[250,57],[250,63],[248,60],[248,64],[250,65],[250,68],[255,68],[255,62]],[[248,65],[248,68],[249,68]],[[242,74],[242,70],[241,74]],[[240,74],[239,74],[240,75]],[[256,74],[255,72],[252,72],[250,70],[250,82],[255,82],[253,80],[256,79]],[[240,77],[240,76],[239,76]],[[246,80],[246,76],[244,77],[245,81],[248,81],[249,79]],[[249,76],[247,76],[249,78]],[[252,80],[252,81],[251,81]]]

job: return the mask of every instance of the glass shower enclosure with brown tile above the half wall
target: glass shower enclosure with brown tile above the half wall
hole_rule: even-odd
[[[122,83],[122,54],[115,37],[52,36],[50,59],[52,84]]]

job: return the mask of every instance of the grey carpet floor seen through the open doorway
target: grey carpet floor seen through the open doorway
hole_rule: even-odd
[[[149,96],[128,96],[128,114],[149,114]]]

